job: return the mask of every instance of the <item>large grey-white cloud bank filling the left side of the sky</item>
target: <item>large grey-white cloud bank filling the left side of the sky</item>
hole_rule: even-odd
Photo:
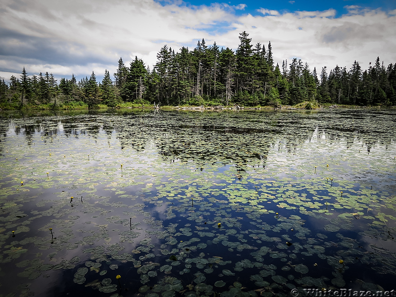
[[[153,0],[1,0],[0,4],[0,70],[17,72],[25,65],[32,73],[36,69],[28,65],[41,65],[45,71],[48,65],[60,64],[66,71],[83,71],[73,71],[77,75],[90,74],[96,66],[101,72],[115,68],[120,56],[128,61],[137,55],[153,64],[152,53],[162,41],[175,49],[195,44],[202,30],[221,29],[225,19],[235,20],[234,9],[245,5],[187,7]]]

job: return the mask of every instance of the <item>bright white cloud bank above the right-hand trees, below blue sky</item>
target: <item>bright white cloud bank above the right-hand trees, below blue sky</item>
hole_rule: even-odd
[[[337,64],[349,68],[358,60],[363,68],[377,56],[385,64],[395,63],[396,17],[380,9],[349,6],[345,15],[336,11],[273,12],[261,9],[264,15],[245,15],[228,34],[246,30],[253,43],[271,41],[278,63],[293,57],[306,61],[311,70]],[[227,35],[228,35],[227,34]],[[237,45],[234,43],[234,47]]]

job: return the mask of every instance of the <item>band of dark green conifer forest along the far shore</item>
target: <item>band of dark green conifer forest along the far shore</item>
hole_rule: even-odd
[[[105,70],[101,82],[94,72],[77,81],[51,73],[29,76],[22,69],[19,78],[11,76],[7,84],[0,79],[0,108],[62,108],[101,104],[152,105],[234,105],[279,106],[308,101],[319,104],[358,106],[396,105],[396,63],[385,66],[380,58],[363,70],[358,61],[349,69],[336,66],[319,72],[293,58],[274,64],[271,43],[252,44],[249,34],[239,34],[234,51],[208,46],[204,39],[195,49],[174,49],[164,45],[150,70],[135,57],[129,66],[118,60],[113,78]]]

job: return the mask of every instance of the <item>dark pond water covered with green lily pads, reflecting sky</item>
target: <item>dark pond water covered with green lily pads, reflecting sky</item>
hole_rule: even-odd
[[[395,119],[2,114],[0,297],[394,290]]]

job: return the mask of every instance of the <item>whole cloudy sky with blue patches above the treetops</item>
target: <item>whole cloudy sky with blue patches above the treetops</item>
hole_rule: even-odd
[[[0,77],[25,67],[101,81],[120,57],[152,69],[164,45],[194,49],[203,38],[235,50],[243,31],[253,45],[271,42],[275,63],[296,57],[318,73],[396,62],[396,0],[0,0]]]

